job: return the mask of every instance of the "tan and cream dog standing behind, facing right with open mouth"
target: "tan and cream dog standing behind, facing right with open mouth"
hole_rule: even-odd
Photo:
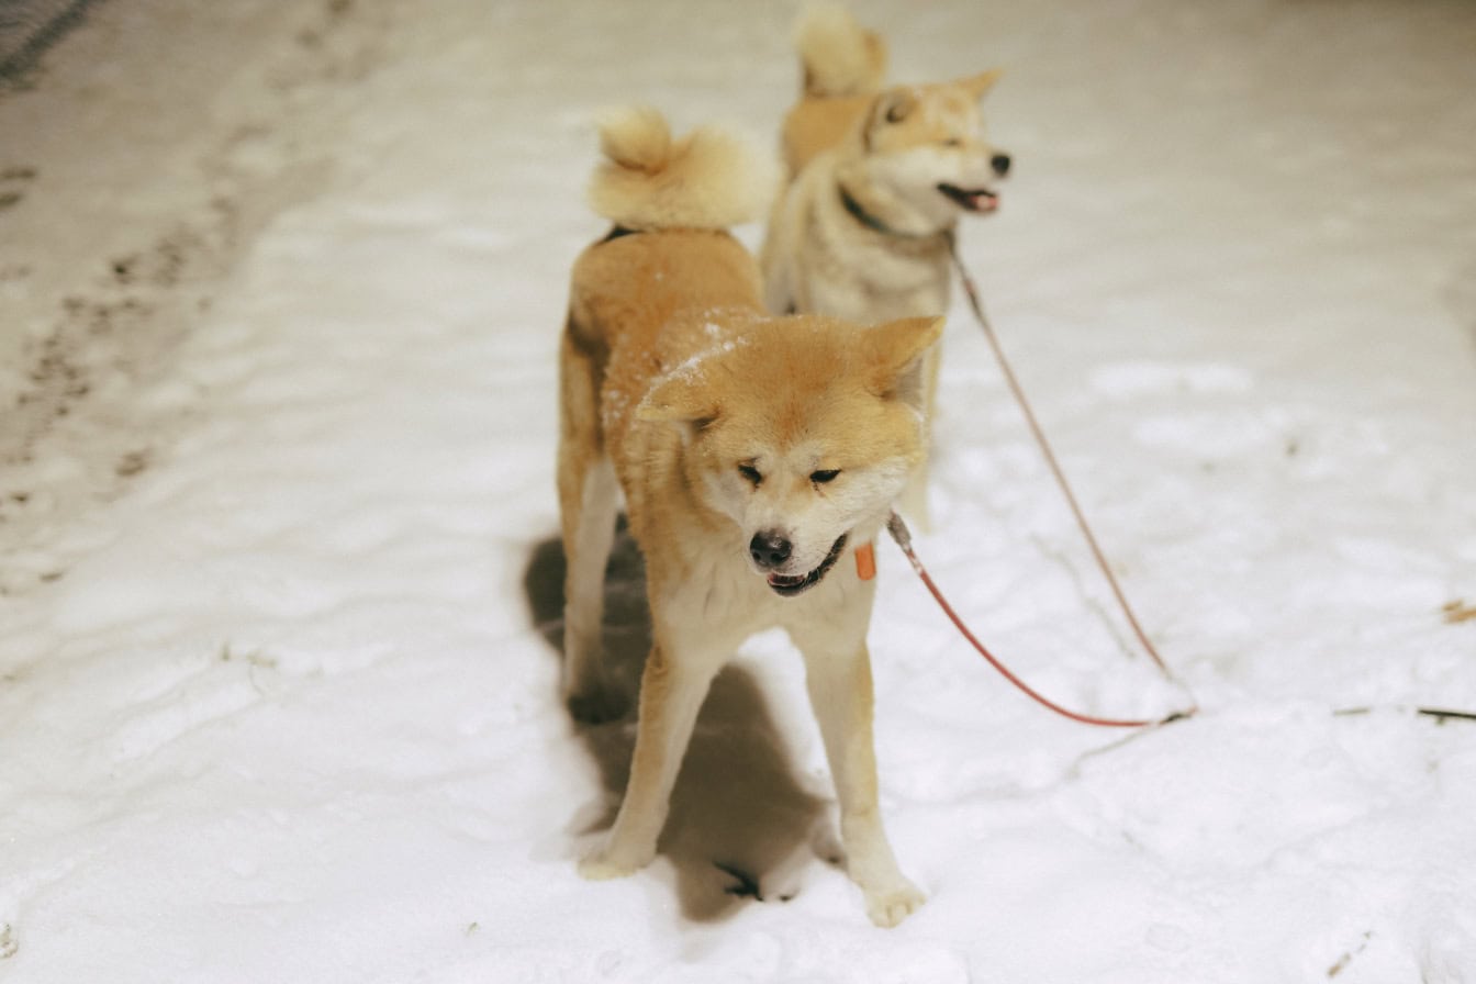
[[[804,91],[782,130],[791,180],[760,254],[765,302],[862,323],[945,313],[953,229],[992,212],[1010,173],[979,111],[1001,72],[881,87],[884,43],[840,7],[807,13],[797,41]],[[937,364],[934,351],[930,419]],[[928,527],[925,466],[902,509]]]

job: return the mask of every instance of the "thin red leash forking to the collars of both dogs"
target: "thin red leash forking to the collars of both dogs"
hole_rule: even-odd
[[[1061,469],[1060,462],[1055,460],[1055,453],[1051,450],[1051,443],[1045,440],[1045,431],[1041,428],[1041,422],[1036,420],[1035,412],[1030,409],[1030,401],[1026,400],[1024,389],[1020,387],[1020,381],[1015,379],[1014,370],[1010,367],[1010,360],[1005,358],[1004,348],[999,345],[999,339],[995,336],[995,329],[989,323],[989,319],[984,317],[984,308],[979,301],[979,291],[974,288],[974,280],[968,276],[968,270],[964,268],[964,263],[958,257],[958,246],[952,235],[949,235],[948,238],[948,252],[949,257],[952,257],[953,260],[953,267],[958,270],[959,279],[964,282],[964,292],[968,295],[968,305],[973,308],[974,317],[979,320],[979,326],[984,329],[984,338],[989,341],[989,348],[993,350],[995,361],[999,363],[999,369],[1004,372],[1005,381],[1010,384],[1010,391],[1014,394],[1015,403],[1020,404],[1020,410],[1024,415],[1026,423],[1030,426],[1030,432],[1035,435],[1036,444],[1041,446],[1041,453],[1045,456],[1046,465],[1049,465],[1051,472],[1055,475],[1055,482],[1057,485],[1060,485],[1061,494],[1066,497],[1066,503],[1072,507],[1072,515],[1076,516],[1076,525],[1080,528],[1082,536],[1086,537],[1086,544],[1091,547],[1092,556],[1097,559],[1097,567],[1101,568],[1103,575],[1107,578],[1107,584],[1111,586],[1111,592],[1117,599],[1119,608],[1122,608],[1123,615],[1128,618],[1128,624],[1132,626],[1134,634],[1138,636],[1138,642],[1142,643],[1144,651],[1159,665],[1159,670],[1163,673],[1163,676],[1170,683],[1175,683],[1182,687],[1182,685],[1173,677],[1173,673],[1169,670],[1169,664],[1165,662],[1163,656],[1159,655],[1157,648],[1154,648],[1153,642],[1148,639],[1148,633],[1145,633],[1142,630],[1142,626],[1138,624],[1138,617],[1134,614],[1132,605],[1128,603],[1126,593],[1123,593],[1122,586],[1117,583],[1117,577],[1111,572],[1111,565],[1107,562],[1107,555],[1103,553],[1103,549],[1098,546],[1097,537],[1092,534],[1091,524],[1086,522],[1086,515],[1082,512],[1080,505],[1076,502],[1076,496],[1072,493],[1070,482],[1066,481],[1066,472]],[[1010,683],[1015,685],[1020,690],[1023,690],[1027,696],[1030,696],[1030,699],[1036,701],[1038,704],[1055,711],[1063,717],[1069,717],[1073,721],[1080,721],[1083,724],[1098,724],[1101,727],[1145,727],[1148,724],[1168,724],[1169,721],[1175,721],[1181,717],[1190,717],[1196,711],[1199,711],[1199,705],[1191,704],[1188,710],[1175,711],[1173,714],[1162,720],[1129,721],[1110,717],[1092,717],[1089,714],[1077,714],[1076,711],[1067,710],[1060,704],[1049,701],[1041,693],[1032,690],[1020,677],[1013,674],[1008,670],[1008,667],[999,662],[999,659],[996,659],[993,654],[984,649],[984,645],[979,642],[977,637],[974,637],[974,633],[968,630],[968,626],[964,624],[964,620],[958,617],[958,614],[953,611],[953,606],[948,603],[948,599],[945,599],[943,593],[937,589],[937,584],[933,583],[933,578],[928,575],[927,568],[922,567],[922,562],[918,559],[917,553],[912,552],[912,534],[908,531],[906,524],[902,522],[902,518],[897,513],[892,513],[892,518],[887,521],[887,533],[890,533],[892,538],[897,541],[899,547],[902,547],[902,552],[912,564],[912,569],[917,571],[918,577],[927,586],[927,590],[933,593],[934,599],[937,599],[939,606],[953,621],[958,630],[964,634],[964,639],[967,639],[974,646],[974,649],[979,651],[979,655],[982,655],[984,659],[989,661],[989,665],[998,670],[1001,676],[1010,680]]]

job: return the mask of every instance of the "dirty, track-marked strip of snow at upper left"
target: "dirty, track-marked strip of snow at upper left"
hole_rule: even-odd
[[[0,288],[21,299],[0,335],[0,550],[19,558],[0,568],[0,597],[62,577],[69,558],[49,534],[167,459],[199,413],[204,387],[168,385],[174,353],[261,230],[334,179],[332,125],[344,93],[384,58],[387,31],[382,15],[351,0],[286,18],[244,4],[244,18],[277,21],[280,43],[264,56],[244,52],[239,66],[143,66],[149,52],[136,49],[149,21],[130,16],[115,24],[121,15],[97,12],[93,31],[52,52],[37,91],[0,103],[0,128],[27,134],[66,111],[72,89],[115,89],[93,80],[123,63],[137,91],[99,96],[94,112],[130,118],[152,93],[177,118],[162,136],[146,121],[99,130],[80,118],[74,142],[123,130],[118,146],[89,145],[80,155],[38,133],[13,145],[28,156],[12,159],[12,149],[0,159],[0,193],[13,198],[4,217],[18,233],[0,248]],[[229,19],[170,4],[146,16],[174,31],[176,50],[210,47],[213,32],[230,30]],[[53,177],[62,187],[80,183],[77,158],[103,162],[87,177],[106,184],[102,204],[49,193]],[[78,223],[89,209],[96,214]],[[89,224],[106,232],[78,240],[75,230]],[[27,549],[43,541],[53,546]]]

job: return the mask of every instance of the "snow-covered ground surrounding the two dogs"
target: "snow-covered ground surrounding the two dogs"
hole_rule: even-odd
[[[663,857],[574,873],[630,738],[551,645],[590,119],[796,89],[788,3],[641,10],[112,0],[0,99],[0,980],[1476,981],[1476,724],[1399,710],[1476,708],[1476,7],[859,7],[899,78],[1010,69],[967,258],[1204,708],[1046,716],[883,544],[893,931],[775,637]],[[1172,707],[961,304],[943,404],[934,577],[1057,699]]]

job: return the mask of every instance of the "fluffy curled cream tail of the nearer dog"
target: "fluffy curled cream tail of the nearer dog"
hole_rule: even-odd
[[[589,184],[593,209],[626,229],[726,229],[759,218],[778,164],[744,140],[701,127],[680,140],[649,106],[608,114],[605,159]]]

